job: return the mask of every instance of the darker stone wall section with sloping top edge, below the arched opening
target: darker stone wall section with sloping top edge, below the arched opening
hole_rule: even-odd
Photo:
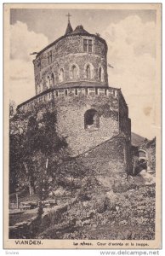
[[[124,151],[125,139],[113,137],[88,150],[79,156],[83,165],[94,175],[101,177],[113,177],[116,174],[127,172],[126,155]]]

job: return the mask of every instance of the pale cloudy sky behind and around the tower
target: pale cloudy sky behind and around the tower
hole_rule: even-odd
[[[30,53],[64,35],[67,13],[74,29],[99,32],[108,44],[109,86],[122,89],[132,131],[154,137],[156,90],[156,11],[88,9],[12,9],[10,13],[10,99],[35,95]],[[143,121],[141,121],[143,120]]]

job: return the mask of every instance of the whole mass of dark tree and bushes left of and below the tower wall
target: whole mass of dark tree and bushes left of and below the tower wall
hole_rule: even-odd
[[[26,186],[31,195],[37,193],[44,200],[54,188],[62,186],[73,195],[82,187],[83,178],[89,177],[83,162],[71,157],[65,138],[56,131],[56,123],[56,112],[47,108],[17,113],[10,120],[12,192],[18,185],[18,189]]]

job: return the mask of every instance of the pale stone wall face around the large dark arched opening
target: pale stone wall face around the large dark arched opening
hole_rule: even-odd
[[[113,96],[75,96],[56,102],[57,130],[73,154],[81,154],[118,133],[117,98]],[[85,129],[84,114],[95,109],[100,116],[100,128]]]

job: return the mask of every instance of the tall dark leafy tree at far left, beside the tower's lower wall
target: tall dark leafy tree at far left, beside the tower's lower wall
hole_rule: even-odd
[[[28,186],[30,194],[34,189],[41,194],[38,188],[48,189],[47,174],[52,171],[48,160],[67,144],[57,135],[55,112],[38,110],[24,118],[24,113],[17,113],[10,119],[10,192],[19,184],[20,189]]]

